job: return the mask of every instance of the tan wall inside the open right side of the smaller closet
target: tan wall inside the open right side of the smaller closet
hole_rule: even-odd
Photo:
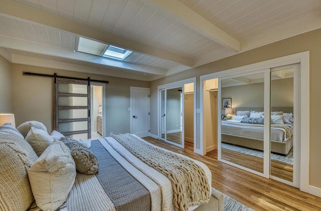
[[[185,141],[194,142],[194,93],[184,94],[184,136]]]

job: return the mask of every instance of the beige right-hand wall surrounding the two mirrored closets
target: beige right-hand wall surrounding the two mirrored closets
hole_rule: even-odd
[[[151,133],[157,135],[157,85],[170,83],[186,78],[197,77],[197,107],[200,107],[199,81],[200,75],[243,66],[259,61],[290,55],[302,51],[310,51],[310,166],[309,184],[321,188],[321,130],[319,129],[319,105],[321,104],[321,29],[299,34],[284,40],[280,40],[262,47],[258,47],[246,52],[229,56],[199,67],[195,67],[184,72],[180,72],[168,77],[160,78],[150,82],[150,123]],[[233,102],[232,102],[233,103]],[[304,105],[303,105],[304,106]],[[200,114],[197,114],[197,147],[200,141]]]

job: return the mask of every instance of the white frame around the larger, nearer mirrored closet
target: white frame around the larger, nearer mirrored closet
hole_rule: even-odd
[[[240,66],[228,70],[223,70],[219,72],[214,72],[206,75],[200,76],[200,108],[201,108],[201,118],[200,118],[200,149],[197,153],[206,154],[206,143],[203,141],[203,82],[204,80],[220,78],[224,76],[233,75],[237,73],[251,72],[258,69],[273,68],[288,64],[299,63],[300,65],[300,104],[304,105],[300,107],[300,175],[299,175],[299,188],[304,192],[318,192],[315,187],[309,185],[309,51],[304,51],[300,53],[295,53],[287,56],[282,56],[279,58],[273,58],[266,61],[261,61],[253,64],[248,64],[245,66]],[[220,84],[219,84],[220,85]],[[220,103],[220,100],[219,100]],[[219,110],[218,110],[219,111]],[[220,123],[221,119],[218,119]]]

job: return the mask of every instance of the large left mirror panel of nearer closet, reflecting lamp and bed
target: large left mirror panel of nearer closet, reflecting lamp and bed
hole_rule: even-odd
[[[220,80],[219,159],[259,175],[264,173],[264,141],[269,141],[264,124],[265,75],[256,71]]]

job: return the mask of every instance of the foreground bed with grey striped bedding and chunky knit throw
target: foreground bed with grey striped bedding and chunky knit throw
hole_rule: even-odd
[[[10,128],[12,131],[13,128]],[[32,158],[34,157],[34,152],[32,152],[32,148],[30,145],[26,145],[26,140],[21,139],[21,137],[18,137],[16,134],[13,134],[12,131],[10,131],[10,135],[2,135],[1,134],[1,128],[0,128],[0,147],[8,148],[8,144],[10,147],[13,143],[16,144],[15,147],[20,147],[20,143],[23,143],[23,147],[26,148],[28,151],[29,156]],[[15,131],[15,132],[18,132]],[[47,132],[47,130],[46,130]],[[28,133],[29,134],[29,133]],[[48,134],[48,133],[47,133]],[[21,135],[21,134],[20,134]],[[49,134],[48,134],[49,135]],[[14,139],[14,142],[11,142],[10,136]],[[53,139],[55,139],[55,135],[52,133],[50,135]],[[24,137],[24,136],[23,136]],[[28,137],[28,135],[27,135]],[[26,137],[26,138],[27,138]],[[57,138],[57,136],[56,136]],[[59,136],[58,136],[59,138]],[[117,140],[116,140],[117,139]],[[18,141],[19,140],[19,141]],[[43,154],[47,150],[49,150],[51,145],[54,144],[62,144],[63,141],[54,140],[48,147],[45,149]],[[90,142],[90,150],[92,153],[96,156],[98,163],[99,163],[99,170],[95,174],[83,174],[80,172],[77,172],[74,177],[74,183],[72,183],[71,188],[68,190],[67,193],[67,200],[64,200],[64,203],[59,205],[58,209],[46,209],[46,210],[60,210],[60,211],[67,211],[67,210],[75,210],[75,211],[81,211],[81,210],[223,210],[223,195],[219,191],[217,191],[214,188],[211,188],[211,171],[209,168],[202,162],[199,162],[197,160],[194,160],[190,157],[171,152],[169,150],[166,150],[164,148],[155,146],[135,135],[132,134],[119,134],[114,135],[113,137],[105,137],[100,138],[97,140],[92,140]],[[134,143],[134,144],[131,144]],[[62,144],[63,145],[63,144]],[[66,144],[67,145],[67,144]],[[67,146],[66,146],[67,147]],[[144,150],[139,150],[139,148],[145,147]],[[142,161],[142,155],[143,152],[141,151],[147,151],[150,150],[158,151],[160,155],[156,156],[156,161],[153,163],[151,160],[147,161],[149,163],[153,163],[156,166],[151,166],[147,162]],[[148,149],[148,150],[147,150]],[[22,149],[21,149],[22,150]],[[136,150],[136,151],[135,151]],[[2,150],[1,152],[3,152]],[[23,150],[22,150],[23,151]],[[19,153],[19,150],[16,150],[17,153]],[[28,154],[26,151],[23,151],[24,154]],[[139,153],[140,152],[140,153]],[[12,156],[15,156],[12,152],[10,152]],[[39,158],[37,158],[36,162],[41,159],[44,155],[41,154]],[[135,154],[135,155],[134,155]],[[137,154],[139,154],[137,156]],[[194,194],[193,197],[197,198],[199,197],[198,201],[195,203],[195,198],[192,200],[191,204],[188,206],[178,206],[178,204],[181,204],[181,201],[184,199],[180,198],[182,196],[182,193],[184,194],[184,189],[182,186],[190,187],[192,192],[192,186],[194,181],[184,181],[185,178],[180,174],[175,175],[174,177],[167,176],[166,172],[171,172],[168,169],[164,169],[164,172],[161,173],[161,171],[157,170],[160,165],[157,164],[157,160],[162,159],[169,159],[168,154],[170,156],[177,156],[179,160],[183,160],[184,166],[188,166],[186,164],[187,162],[192,163],[192,165],[195,167],[198,166],[199,170],[204,171],[204,178],[202,182],[207,182],[208,188],[205,188],[204,185],[201,186],[200,189],[198,186],[196,186],[196,189],[200,189],[200,192],[205,192],[205,194],[208,194],[208,199],[206,201],[202,201],[202,198],[199,196],[196,196],[197,194]],[[2,154],[0,154],[2,155]],[[2,156],[4,158],[4,156]],[[6,181],[7,183],[10,181],[10,177],[15,174],[15,177],[18,176],[20,180],[25,182],[19,182],[19,185],[24,185],[22,190],[19,188],[15,191],[9,190],[10,194],[15,194],[15,197],[7,197],[7,192],[3,192],[4,195],[3,198],[0,200],[0,204],[5,204],[5,206],[1,206],[2,210],[9,210],[8,207],[15,207],[17,203],[20,201],[19,198],[22,198],[21,201],[28,204],[28,199],[33,199],[32,194],[35,195],[36,201],[36,190],[33,185],[38,186],[42,185],[41,178],[42,176],[39,176],[37,178],[31,179],[31,172],[34,170],[32,169],[33,165],[31,167],[26,166],[26,163],[23,166],[16,166],[17,163],[19,163],[22,155],[18,155],[16,157],[8,158],[8,163],[13,162],[14,159],[17,159],[12,164],[7,164],[5,162],[2,162],[1,164],[4,166],[1,166],[2,168],[5,168],[7,166],[8,169],[13,169],[13,173],[10,174],[10,176],[7,176],[7,170],[1,171],[5,174],[2,177],[3,181]],[[59,157],[58,157],[59,158]],[[36,159],[36,158],[35,158]],[[76,161],[75,161],[76,162]],[[77,163],[77,162],[76,162]],[[180,164],[182,164],[180,163]],[[15,165],[15,166],[14,166]],[[25,169],[28,171],[29,178],[26,173],[23,173],[21,175],[17,175],[17,170],[15,170],[15,167],[19,167],[22,169]],[[29,168],[29,169],[28,169]],[[31,170],[32,169],[32,170]],[[65,171],[64,171],[65,172]],[[191,175],[193,175],[191,173]],[[55,176],[54,174],[50,176]],[[72,177],[72,174],[70,174],[69,177]],[[180,180],[184,178],[183,180]],[[6,178],[6,180],[4,180]],[[173,183],[173,178],[178,178],[178,183]],[[15,178],[15,181],[17,178]],[[194,180],[194,179],[192,179]],[[195,180],[197,180],[195,178]],[[1,191],[5,189],[6,185],[1,182],[0,185]],[[27,184],[30,186],[28,187]],[[48,185],[46,182],[45,185]],[[65,184],[65,181],[62,182]],[[173,186],[173,184],[176,184]],[[10,185],[10,184],[9,184]],[[191,185],[191,186],[188,186]],[[58,186],[61,186],[61,183],[58,184]],[[68,186],[68,185],[66,185]],[[8,189],[9,186],[6,188]],[[28,189],[29,188],[29,189]],[[65,187],[64,187],[65,188]],[[195,189],[195,187],[193,187]],[[10,189],[10,188],[9,188]],[[32,189],[32,192],[31,192]],[[181,196],[180,193],[177,193],[177,190],[181,190]],[[31,192],[31,195],[27,195],[28,191]],[[189,190],[189,189],[187,189]],[[21,192],[20,192],[21,191]],[[43,190],[41,190],[42,195],[44,194]],[[15,193],[14,193],[15,192]],[[188,191],[189,192],[189,191]],[[48,193],[49,194],[49,193]],[[201,194],[201,193],[200,193]],[[42,196],[41,195],[41,196]],[[58,196],[57,196],[58,195]],[[62,195],[62,193],[56,193],[53,194],[54,197],[59,197]],[[178,197],[179,195],[179,197]],[[6,197],[5,197],[6,196]],[[185,196],[184,196],[185,197]],[[7,199],[6,199],[7,198]],[[3,203],[5,201],[5,203]],[[26,202],[27,201],[27,202]],[[30,200],[29,200],[30,201]],[[32,205],[29,206],[29,210],[41,210],[37,204],[36,201],[33,201]],[[58,200],[55,200],[56,202]],[[11,206],[11,202],[15,203],[13,206]],[[53,202],[53,203],[56,203]],[[38,201],[37,201],[38,203]],[[22,204],[20,202],[18,203],[19,208],[12,208],[15,210],[26,210],[25,208],[22,208]],[[8,207],[6,208],[6,206]],[[56,204],[57,205],[57,204]],[[51,206],[53,207],[53,206]]]

